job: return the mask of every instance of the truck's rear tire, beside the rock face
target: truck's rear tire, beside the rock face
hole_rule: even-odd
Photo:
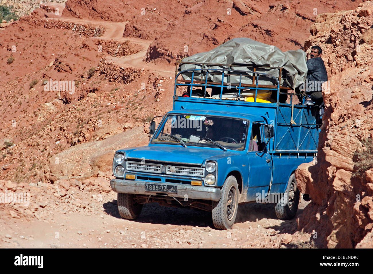
[[[275,211],[277,218],[281,220],[291,220],[298,210],[300,192],[297,188],[297,180],[294,173],[291,174],[286,192],[281,200],[276,204]]]

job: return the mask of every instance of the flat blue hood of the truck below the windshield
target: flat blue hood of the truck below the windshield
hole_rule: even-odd
[[[127,148],[120,150],[126,153],[127,158],[142,157],[146,160],[157,160],[164,162],[179,162],[189,164],[203,164],[205,160],[218,160],[226,158],[237,153],[232,151],[223,151],[220,148],[204,148],[204,147],[187,147],[176,145],[163,146],[145,146],[137,148]]]

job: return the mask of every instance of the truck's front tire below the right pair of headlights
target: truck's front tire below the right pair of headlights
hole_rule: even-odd
[[[234,176],[225,179],[222,197],[212,202],[212,221],[217,229],[231,229],[238,210],[238,184]]]

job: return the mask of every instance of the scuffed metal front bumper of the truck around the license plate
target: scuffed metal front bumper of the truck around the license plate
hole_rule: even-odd
[[[110,186],[115,192],[129,193],[129,194],[142,194],[142,195],[156,195],[154,191],[145,191],[145,181],[133,181],[123,179],[113,179],[110,181]],[[152,182],[153,183],[153,182]],[[177,193],[162,193],[163,195],[185,198],[185,194],[188,195],[188,199],[202,199],[210,201],[219,201],[222,196],[222,190],[219,188],[208,187],[208,186],[191,186],[186,184],[175,184],[175,183],[160,183],[162,185],[177,186]]]

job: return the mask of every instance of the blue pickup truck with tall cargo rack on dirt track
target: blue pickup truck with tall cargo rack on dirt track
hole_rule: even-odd
[[[150,123],[147,146],[115,152],[110,184],[120,215],[133,220],[143,204],[158,202],[211,211],[217,229],[231,229],[238,204],[271,202],[278,218],[293,218],[294,172],[317,153],[317,111],[294,103],[292,89],[280,85],[281,67],[205,65],[176,70],[173,110],[157,128]]]

